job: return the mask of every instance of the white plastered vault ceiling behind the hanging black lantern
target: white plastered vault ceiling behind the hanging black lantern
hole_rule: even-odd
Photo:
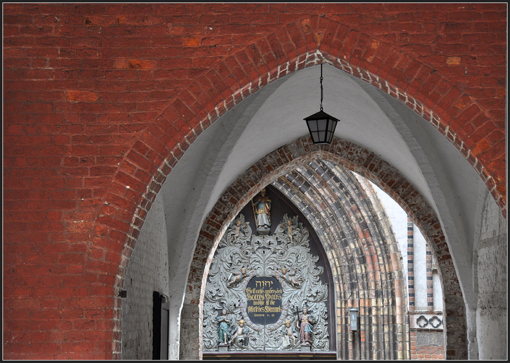
[[[335,136],[395,167],[438,214],[465,300],[472,294],[472,253],[487,188],[461,153],[403,103],[324,65],[324,111],[339,118]],[[170,279],[182,296],[203,220],[223,191],[253,163],[308,133],[319,110],[319,66],[279,79],[225,113],[190,145],[163,186]]]

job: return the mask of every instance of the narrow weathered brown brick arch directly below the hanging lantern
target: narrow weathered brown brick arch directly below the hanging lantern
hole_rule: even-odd
[[[314,145],[307,137],[281,147],[252,165],[223,193],[200,230],[191,266],[193,274],[188,277],[185,304],[199,306],[203,298],[200,294],[203,293],[208,266],[219,239],[243,206],[264,186],[316,159],[341,165],[371,180],[392,196],[419,226],[436,254],[443,286],[448,287],[443,290],[447,357],[466,359],[465,304],[452,257],[435,212],[395,168],[370,151],[338,138],[335,138],[330,146]],[[390,180],[388,175],[392,175]],[[209,257],[205,261],[204,254],[208,253]],[[199,351],[200,347],[196,346],[194,349]]]

